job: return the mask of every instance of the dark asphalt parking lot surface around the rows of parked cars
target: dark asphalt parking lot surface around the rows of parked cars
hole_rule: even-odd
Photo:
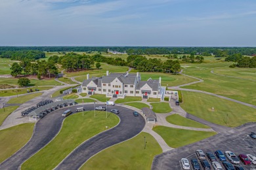
[[[256,156],[256,139],[249,137],[251,131],[256,131],[256,123],[245,124],[198,143],[170,150],[154,158],[152,169],[182,169],[181,158],[187,158],[188,161],[193,158],[198,159],[196,156],[196,150],[198,149],[203,150],[205,154],[206,152],[214,154],[216,150],[221,150],[223,153],[225,151],[234,152],[236,156],[239,154],[252,154]],[[211,161],[209,163],[211,164]],[[221,161],[219,163],[223,166]],[[244,165],[241,161],[240,165],[244,169],[256,170],[256,165]],[[190,167],[192,167],[191,163]],[[211,168],[213,169],[213,167]]]

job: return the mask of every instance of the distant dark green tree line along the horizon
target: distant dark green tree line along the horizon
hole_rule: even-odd
[[[148,47],[148,46],[0,46],[0,52],[18,50],[39,50],[41,52],[127,52],[129,55],[147,54],[194,54],[202,56],[242,54],[251,56],[256,54],[255,47]]]

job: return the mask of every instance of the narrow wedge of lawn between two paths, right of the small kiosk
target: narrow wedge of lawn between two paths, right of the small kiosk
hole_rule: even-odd
[[[179,114],[172,114],[170,116],[166,117],[167,122],[170,124],[176,124],[179,126],[188,126],[188,127],[198,127],[198,128],[211,128],[209,126],[206,126],[204,124],[200,124],[199,122],[196,122],[194,120],[190,120],[188,118],[184,118],[180,116]]]

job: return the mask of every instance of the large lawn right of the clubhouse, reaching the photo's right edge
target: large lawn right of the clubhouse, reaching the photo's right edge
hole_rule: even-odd
[[[183,91],[182,95],[182,109],[209,122],[229,127],[256,122],[256,109],[251,107],[203,93]]]

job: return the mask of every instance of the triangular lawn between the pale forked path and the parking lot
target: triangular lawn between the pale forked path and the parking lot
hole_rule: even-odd
[[[190,143],[196,143],[217,134],[214,131],[192,131],[165,126],[156,126],[153,127],[153,130],[172,148],[179,148]]]

